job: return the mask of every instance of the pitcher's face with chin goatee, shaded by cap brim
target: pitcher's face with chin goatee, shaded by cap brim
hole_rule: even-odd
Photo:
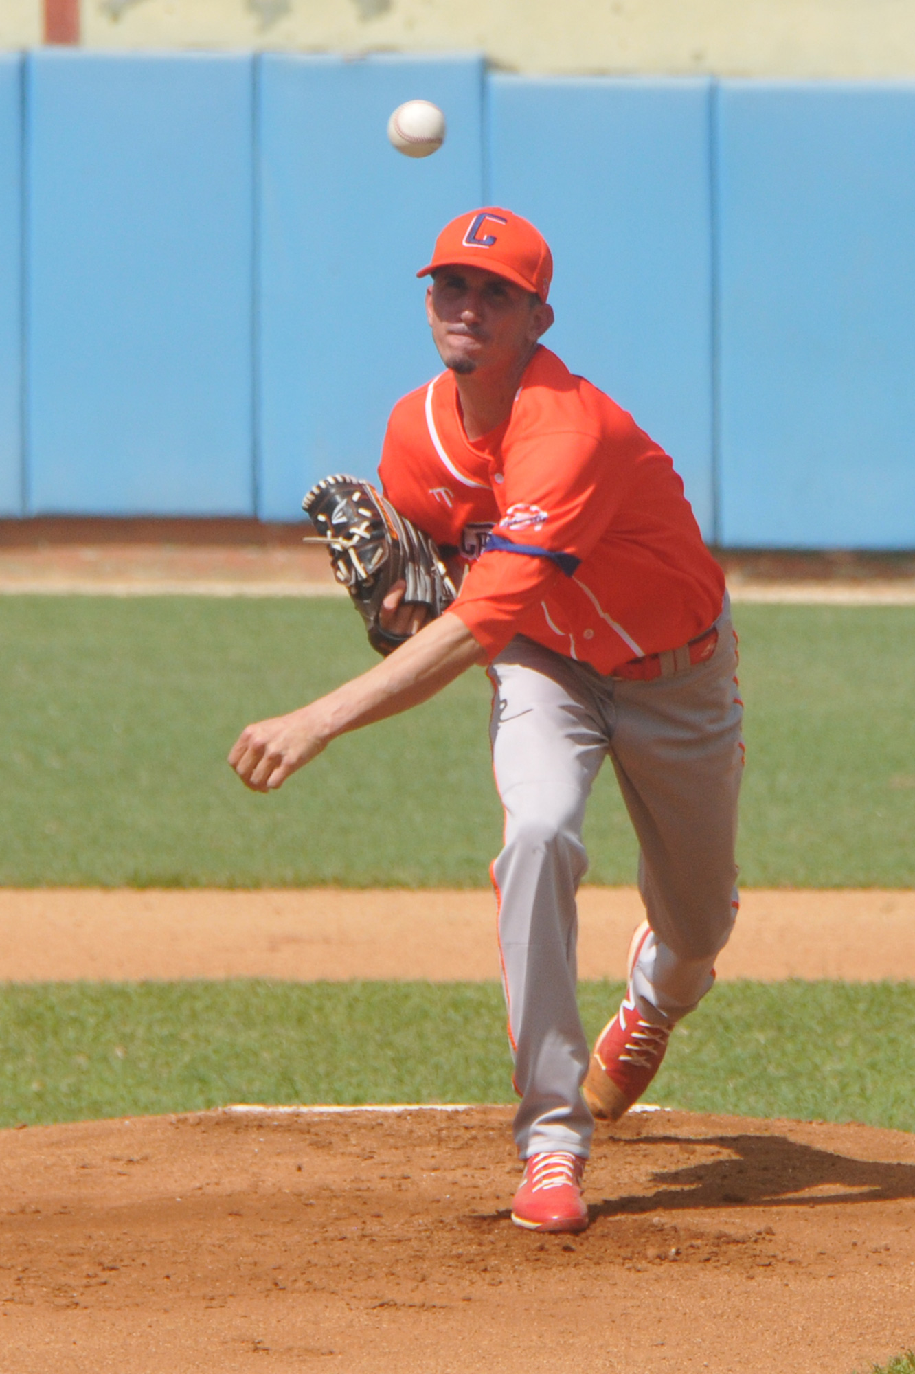
[[[460,375],[517,367],[552,324],[551,306],[478,267],[440,268],[426,313],[442,363]]]

